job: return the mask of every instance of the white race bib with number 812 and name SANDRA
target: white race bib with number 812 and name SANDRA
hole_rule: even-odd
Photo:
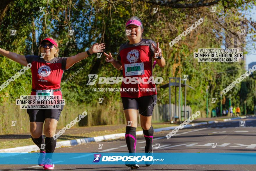
[[[144,63],[134,63],[134,64],[125,64],[125,76],[131,75],[143,75],[144,71]]]

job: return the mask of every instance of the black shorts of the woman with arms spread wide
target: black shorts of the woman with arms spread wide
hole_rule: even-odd
[[[45,122],[46,118],[55,119],[59,121],[61,111],[64,105],[61,105],[61,109],[27,109],[30,122]]]

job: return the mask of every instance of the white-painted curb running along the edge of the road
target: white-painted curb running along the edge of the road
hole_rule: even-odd
[[[250,117],[250,116],[229,118],[229,119],[224,119],[223,121],[226,122],[226,121],[230,121],[230,120],[234,120],[234,119],[244,119],[244,118],[248,118],[248,117]],[[193,123],[193,124],[186,125],[185,127],[189,128],[192,126],[213,124],[213,123],[218,123],[218,122],[221,122],[221,121],[208,121],[208,122]],[[154,129],[154,132],[169,131],[169,130],[175,129],[176,127],[177,126],[156,128],[156,129]],[[136,131],[136,135],[143,135],[143,131]],[[62,146],[74,146],[74,145],[79,145],[79,144],[86,144],[89,142],[101,142],[104,140],[118,139],[121,137],[125,137],[125,133],[103,135],[103,136],[98,136],[98,137],[80,138],[80,139],[76,139],[76,140],[66,140],[66,141],[57,142],[56,148],[61,148]],[[36,145],[29,145],[29,146],[15,147],[15,148],[9,148],[9,149],[0,149],[0,153],[29,153],[31,151],[38,151],[38,147]]]

